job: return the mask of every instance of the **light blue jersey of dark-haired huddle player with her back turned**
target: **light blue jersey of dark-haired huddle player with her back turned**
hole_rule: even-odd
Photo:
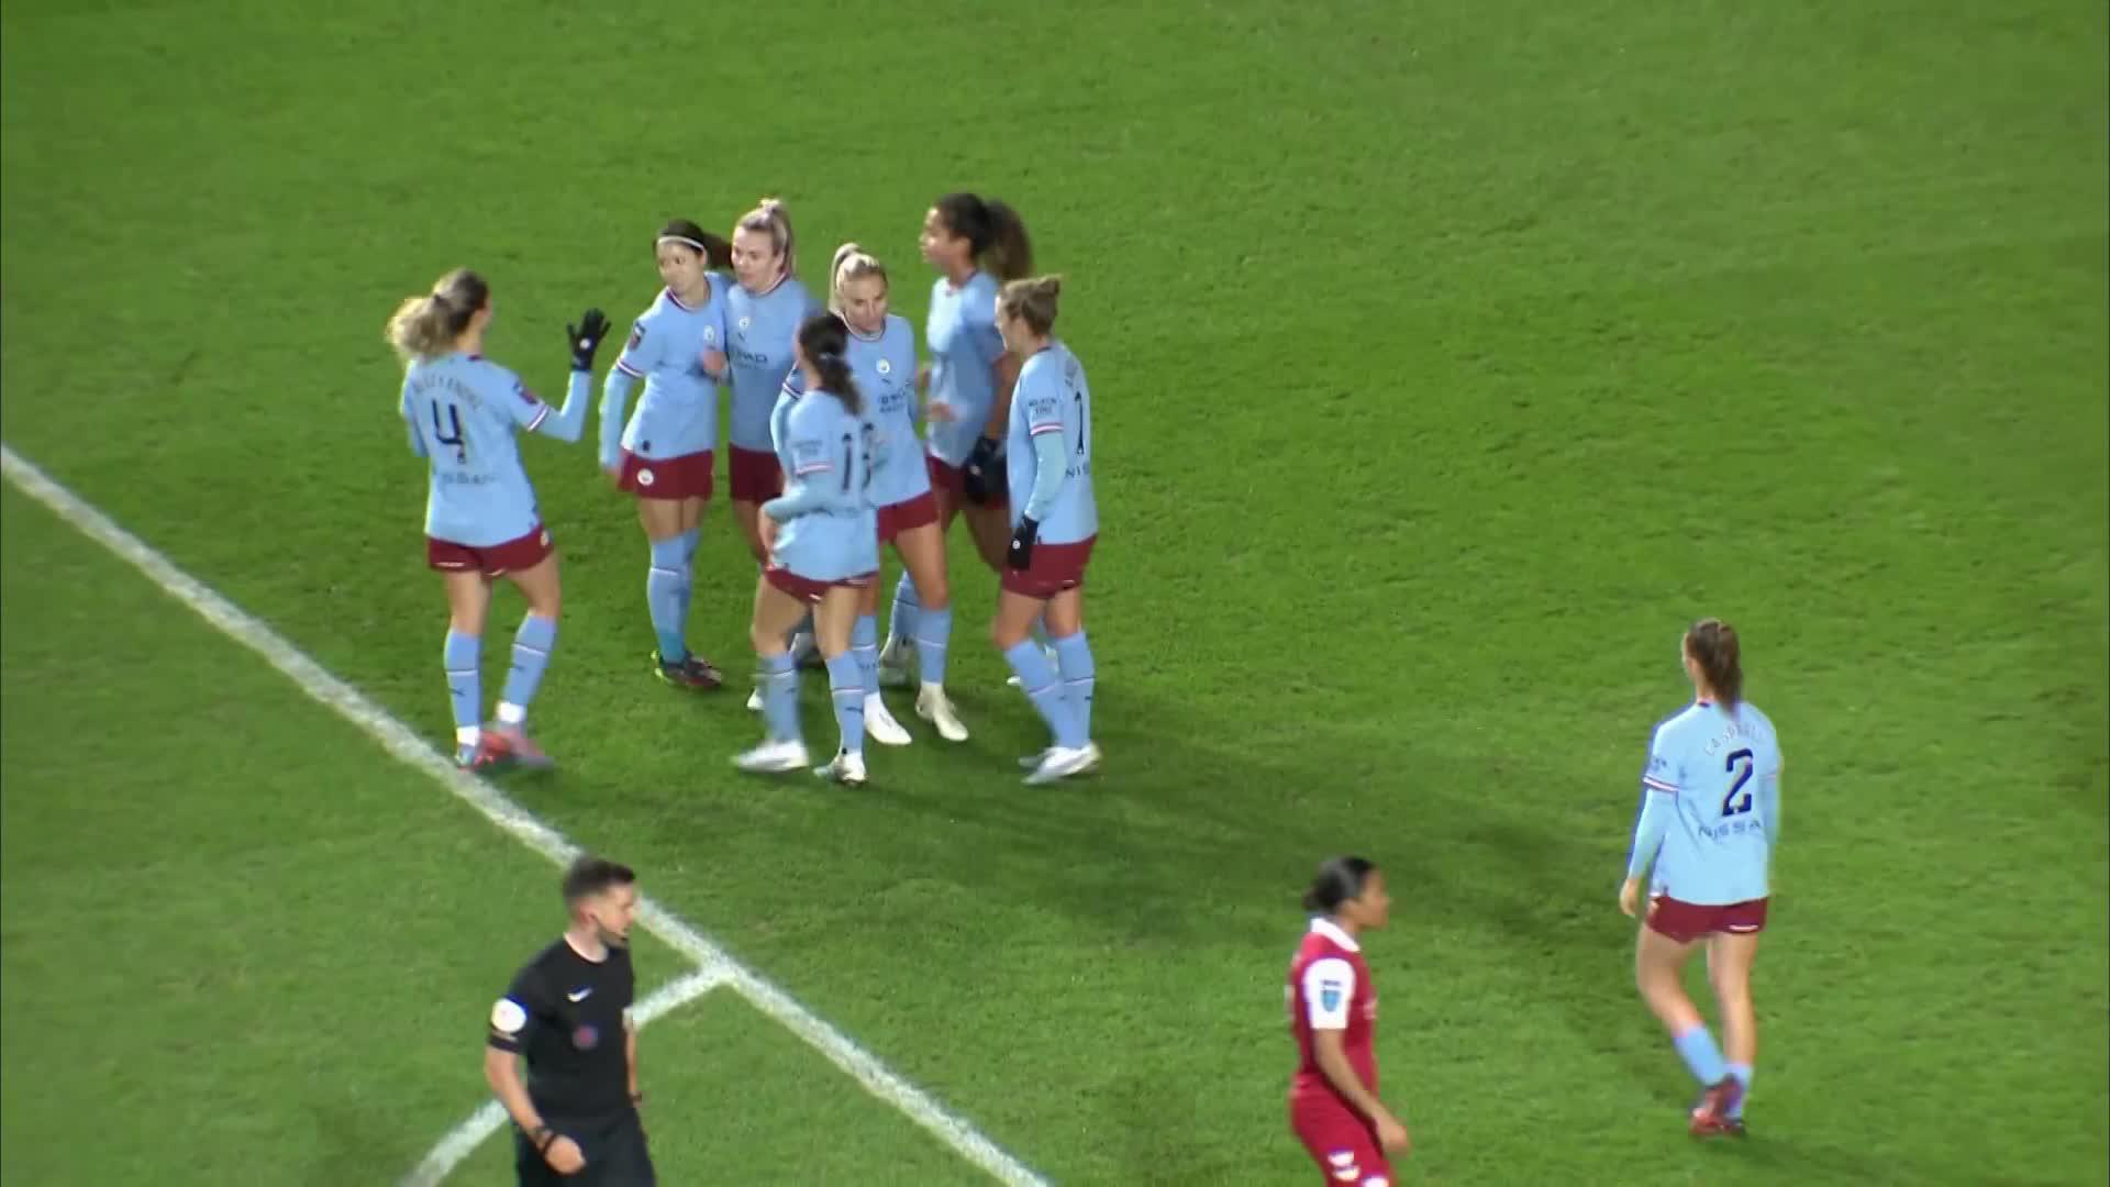
[[[806,511],[776,528],[774,560],[808,581],[880,568],[880,517],[865,496],[871,429],[827,391],[808,391],[783,416],[785,498]]]

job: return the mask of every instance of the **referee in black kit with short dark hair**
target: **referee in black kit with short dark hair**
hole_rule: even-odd
[[[631,1024],[637,874],[578,858],[563,872],[563,906],[572,925],[492,1005],[483,1079],[517,1126],[521,1187],[652,1187]],[[517,1056],[528,1056],[525,1086]]]

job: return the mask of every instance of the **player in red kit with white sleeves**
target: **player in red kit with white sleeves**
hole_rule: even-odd
[[[1289,1031],[1298,1073],[1289,1079],[1289,1128],[1329,1187],[1390,1187],[1388,1155],[1407,1153],[1407,1128],[1378,1100],[1378,986],[1361,934],[1384,927],[1393,898],[1363,858],[1329,858],[1304,891],[1310,931],[1289,961]]]

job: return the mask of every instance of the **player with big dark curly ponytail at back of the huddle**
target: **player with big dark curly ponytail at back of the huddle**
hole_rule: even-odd
[[[1025,222],[996,199],[945,194],[926,213],[922,256],[937,268],[931,283],[931,313],[924,344],[931,363],[916,384],[931,399],[931,486],[937,498],[939,532],[966,513],[975,551],[1002,572],[1011,524],[1004,513],[1004,425],[1017,359],[1004,353],[992,313],[996,287],[1032,275],[1034,249]],[[895,615],[880,661],[890,672],[907,667],[916,640],[918,591],[903,572],[895,587]]]

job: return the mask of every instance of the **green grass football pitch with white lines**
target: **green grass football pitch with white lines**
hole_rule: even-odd
[[[11,2],[0,1179],[509,1181],[483,1018],[576,843],[658,906],[665,1183],[1304,1183],[1281,980],[1336,851],[1397,900],[1401,1183],[2102,1183],[2106,38],[2072,0]],[[973,739],[897,699],[861,792],[736,777],[741,689],[648,674],[633,507],[536,439],[561,769],[447,773],[395,302],[483,270],[551,393],[658,224],[774,192],[810,285],[859,239],[920,323],[954,188],[1068,277],[1104,771],[1019,786],[956,532]],[[728,674],[751,591],[715,503]],[[1699,615],[1789,758],[1737,1145],[1682,1134],[1614,906]]]

